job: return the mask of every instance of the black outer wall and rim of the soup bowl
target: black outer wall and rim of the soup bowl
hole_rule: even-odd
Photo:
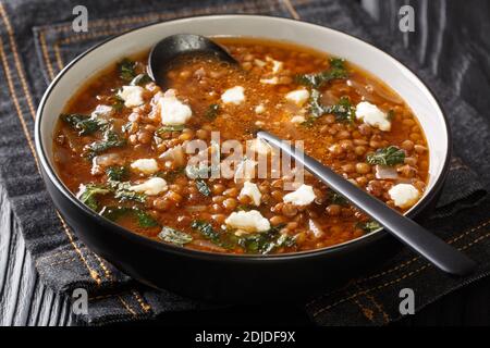
[[[60,181],[49,161],[41,135],[42,117],[50,95],[64,75],[85,55],[111,40],[84,52],[57,76],[41,100],[35,129],[36,151],[48,191],[69,226],[96,253],[152,287],[210,301],[246,302],[313,296],[372,269],[399,250],[400,244],[380,229],[339,246],[308,252],[279,256],[218,254],[142,237],[81,203]],[[449,125],[446,120],[444,122],[443,132],[448,133],[451,149]],[[436,184],[409,212],[411,217],[421,212],[428,213],[434,204],[448,173],[449,159],[450,150],[445,153],[443,169]]]

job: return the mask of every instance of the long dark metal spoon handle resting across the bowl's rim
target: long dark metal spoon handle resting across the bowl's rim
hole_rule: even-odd
[[[299,149],[267,132],[258,132],[257,136],[280,148],[283,153],[292,157],[298,163],[303,163],[304,167],[310,173],[344,196],[366,214],[377,220],[392,235],[442,271],[454,275],[466,275],[476,268],[476,263],[465,254]]]

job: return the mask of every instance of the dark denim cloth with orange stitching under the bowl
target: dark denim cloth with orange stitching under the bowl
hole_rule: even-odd
[[[88,33],[71,29],[72,9],[85,4]],[[384,324],[400,318],[397,295],[409,287],[417,310],[476,278],[490,268],[489,120],[446,90],[401,42],[363,12],[356,1],[34,1],[0,7],[0,175],[41,279],[58,291],[88,289],[90,324],[154,318],[169,311],[209,309],[168,291],[142,286],[88,250],[57,214],[33,157],[35,108],[56,74],[96,42],[133,27],[175,17],[216,13],[258,13],[295,17],[362,37],[414,69],[436,91],[453,127],[451,173],[438,209],[424,225],[480,262],[473,276],[441,274],[404,249],[379,270],[344,287],[311,299],[305,310],[321,325]],[[458,157],[457,157],[458,156]],[[461,160],[464,159],[464,160]]]

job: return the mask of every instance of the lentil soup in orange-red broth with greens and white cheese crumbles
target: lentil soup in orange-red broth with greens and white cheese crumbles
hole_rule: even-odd
[[[170,69],[162,89],[146,74],[147,53],[135,54],[72,98],[56,127],[53,158],[82,202],[136,234],[212,252],[311,250],[380,227],[294,165],[257,177],[259,156],[270,166],[275,153],[256,139],[259,129],[302,140],[306,153],[400,212],[420,199],[427,142],[408,105],[382,82],[291,44],[216,41],[240,66],[189,57]],[[226,140],[249,151],[223,153]],[[189,164],[192,144],[201,147],[198,165]],[[231,173],[217,177],[231,156]]]

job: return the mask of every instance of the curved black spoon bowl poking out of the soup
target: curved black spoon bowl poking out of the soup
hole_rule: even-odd
[[[221,61],[237,64],[224,48],[204,36],[175,34],[154,46],[148,57],[148,74],[160,87],[168,87],[167,72],[179,59],[191,54],[216,57]]]

